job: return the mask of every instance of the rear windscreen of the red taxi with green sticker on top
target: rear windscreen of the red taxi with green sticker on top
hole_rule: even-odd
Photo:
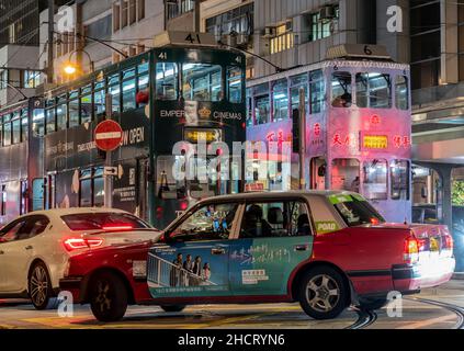
[[[361,196],[343,195],[330,201],[349,227],[385,223],[382,215]]]

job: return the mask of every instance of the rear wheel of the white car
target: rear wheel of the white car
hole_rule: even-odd
[[[31,269],[27,291],[35,309],[53,309],[57,306],[57,298],[53,295],[52,280],[43,262],[35,263]]]

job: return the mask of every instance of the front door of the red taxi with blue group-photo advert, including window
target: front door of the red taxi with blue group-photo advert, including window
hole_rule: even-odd
[[[165,242],[148,257],[148,285],[154,298],[227,296],[230,237],[237,203],[210,204],[168,228]]]

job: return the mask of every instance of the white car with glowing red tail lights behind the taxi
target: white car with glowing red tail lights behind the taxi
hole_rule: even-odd
[[[0,229],[0,298],[29,297],[35,308],[50,308],[71,256],[159,235],[118,210],[49,210],[19,217]]]

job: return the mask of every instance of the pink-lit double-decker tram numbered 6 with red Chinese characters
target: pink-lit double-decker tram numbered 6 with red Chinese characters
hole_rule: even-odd
[[[248,82],[247,139],[269,146],[264,158],[254,152],[247,163],[248,173],[265,165],[268,174],[265,179],[248,176],[254,179],[248,189],[298,189],[298,154],[283,145],[297,139],[299,131],[293,131],[292,114],[299,109],[303,88],[305,186],[359,192],[388,222],[409,222],[409,66],[393,63],[378,46],[330,48],[327,57]]]

